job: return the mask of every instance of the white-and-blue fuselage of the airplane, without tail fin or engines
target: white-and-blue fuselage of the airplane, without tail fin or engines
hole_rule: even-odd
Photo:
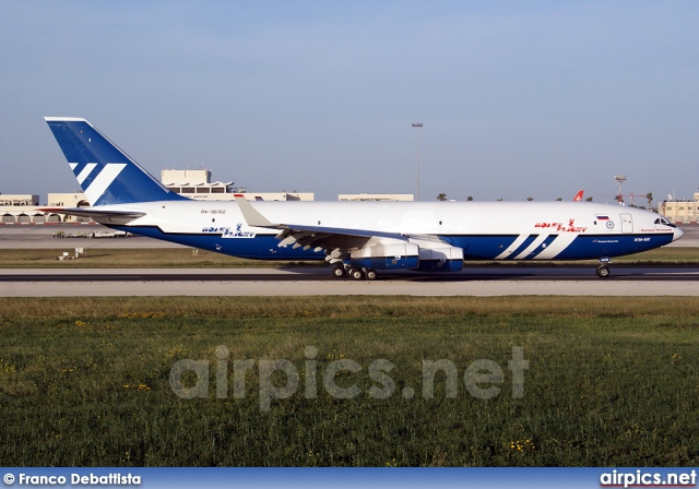
[[[595,203],[254,202],[274,223],[364,229],[419,242],[438,237],[466,260],[588,260],[651,250],[682,231],[659,214]],[[322,250],[279,247],[279,230],[250,227],[236,202],[164,201],[103,206],[145,215],[122,230],[240,258],[324,259]]]

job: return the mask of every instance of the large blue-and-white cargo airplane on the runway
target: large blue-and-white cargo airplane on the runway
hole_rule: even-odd
[[[85,119],[47,117],[92,207],[60,212],[233,257],[325,260],[336,277],[378,270],[458,272],[465,260],[599,259],[683,231],[639,208],[577,202],[200,202],[161,184]]]

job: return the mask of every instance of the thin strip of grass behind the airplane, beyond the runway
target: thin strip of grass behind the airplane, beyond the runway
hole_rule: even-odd
[[[85,255],[79,260],[56,260],[58,255],[62,255],[63,251],[70,251],[71,254],[74,247],[82,243],[71,244],[66,248],[57,248],[52,250],[44,249],[7,249],[0,253],[0,269],[234,269],[234,267],[286,267],[286,266],[325,266],[323,262],[288,262],[288,261],[262,261],[262,260],[245,260],[239,258],[226,257],[210,251],[199,250],[192,253],[188,248],[162,248],[162,249],[129,249],[129,248],[85,248]],[[72,248],[71,248],[72,247]],[[657,250],[647,251],[644,253],[621,257],[613,260],[619,264],[663,264],[663,265],[699,265],[699,249],[670,247]],[[596,260],[582,262],[568,262],[581,266],[594,266]],[[494,264],[493,262],[467,262],[466,265],[484,265]],[[545,265],[552,266],[561,264],[561,262],[495,262],[498,266],[509,266],[512,264],[528,266]]]

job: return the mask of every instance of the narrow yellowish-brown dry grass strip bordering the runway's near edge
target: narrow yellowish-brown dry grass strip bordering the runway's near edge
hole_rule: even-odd
[[[0,318],[449,318],[475,314],[695,321],[699,297],[73,297],[0,298]],[[696,320],[699,321],[699,320]]]

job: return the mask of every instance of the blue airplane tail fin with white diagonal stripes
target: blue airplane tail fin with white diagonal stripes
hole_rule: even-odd
[[[45,117],[90,205],[181,200],[85,119]]]

